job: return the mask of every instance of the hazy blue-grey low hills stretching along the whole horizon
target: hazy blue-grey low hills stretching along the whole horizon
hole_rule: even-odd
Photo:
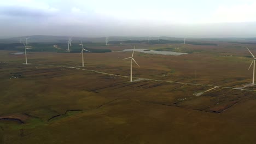
[[[0,43],[21,43],[24,41],[26,43],[26,38],[28,38],[28,43],[68,43],[68,36],[53,36],[53,35],[30,35],[24,37],[14,37],[7,39],[0,39]],[[160,37],[161,40],[171,40],[171,41],[183,41],[184,38],[174,38],[174,37]],[[73,43],[80,43],[82,40],[84,43],[105,43],[106,38],[86,38],[86,37],[72,37]],[[158,40],[158,37],[150,37],[150,40]],[[256,43],[256,38],[186,38],[187,41],[230,41],[230,42],[249,42]],[[109,37],[108,41],[148,41],[148,37]]]

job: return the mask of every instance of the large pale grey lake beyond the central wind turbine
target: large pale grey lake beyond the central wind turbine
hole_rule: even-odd
[[[133,51],[133,49],[125,49],[123,51]],[[144,53],[152,53],[152,54],[160,54],[160,55],[173,55],[173,56],[180,56],[180,55],[187,55],[188,54],[188,53],[182,53],[182,52],[154,51],[154,50],[148,50],[148,49],[135,49],[134,51],[144,52]]]

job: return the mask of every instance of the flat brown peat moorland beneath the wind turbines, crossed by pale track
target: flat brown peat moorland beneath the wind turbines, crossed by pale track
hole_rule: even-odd
[[[189,55],[135,52],[134,82],[133,44],[90,47],[112,52],[84,53],[85,67],[79,53],[28,51],[24,65],[0,51],[0,143],[255,143],[256,92],[185,84],[252,82],[256,45],[217,44],[136,44]]]

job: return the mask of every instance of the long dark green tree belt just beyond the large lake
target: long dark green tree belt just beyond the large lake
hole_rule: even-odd
[[[133,43],[133,44],[141,44],[141,43],[148,43],[148,40],[126,40],[126,41],[109,41],[109,44],[120,44],[120,43]],[[160,39],[158,40],[150,40],[149,44],[183,44],[183,40],[164,40]],[[217,44],[213,43],[201,43],[199,41],[186,41],[186,44],[191,44],[191,45],[213,45],[217,46]]]

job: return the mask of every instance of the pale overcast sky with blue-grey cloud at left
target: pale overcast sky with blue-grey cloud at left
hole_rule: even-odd
[[[0,37],[256,37],[255,0],[7,0]]]

